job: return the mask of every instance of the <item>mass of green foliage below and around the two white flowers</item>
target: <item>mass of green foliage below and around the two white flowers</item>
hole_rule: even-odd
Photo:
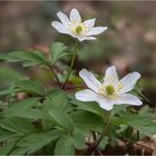
[[[110,48],[111,45],[105,47],[107,50]],[[99,49],[98,47],[98,51]],[[23,67],[45,66],[51,71],[53,64],[56,67],[57,61],[69,55],[67,50],[68,47],[64,43],[55,42],[47,56],[37,50],[14,51],[1,53],[0,59],[22,62]],[[135,130],[149,137],[156,131],[156,117],[149,107],[135,110],[128,105],[120,105],[108,113],[97,103],[77,100],[74,96],[74,85],[80,79],[75,74],[70,79],[71,84],[67,84],[67,88],[62,87],[64,89],[62,84],[60,88],[55,82],[45,87],[39,80],[19,79],[18,76],[20,75],[14,72],[10,88],[0,91],[1,155],[75,155],[77,150],[88,149],[89,139],[92,137],[95,138],[91,144],[96,145],[106,128],[105,136],[98,145],[99,149],[105,149],[107,145],[115,146],[118,138],[128,137],[135,142]],[[67,91],[68,87],[74,89]],[[26,94],[26,97],[19,100],[19,92]]]

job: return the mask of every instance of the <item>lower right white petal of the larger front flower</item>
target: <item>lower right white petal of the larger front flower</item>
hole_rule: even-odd
[[[124,94],[124,95],[121,95],[121,97],[119,99],[117,99],[115,101],[115,104],[116,105],[128,104],[128,105],[134,105],[134,106],[140,106],[140,105],[143,105],[143,101],[134,95]]]

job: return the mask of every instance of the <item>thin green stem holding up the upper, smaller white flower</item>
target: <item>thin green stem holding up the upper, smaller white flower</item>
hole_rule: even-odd
[[[72,55],[72,58],[71,58],[70,67],[69,67],[66,80],[65,80],[65,82],[62,85],[62,88],[66,88],[67,81],[68,81],[68,79],[70,77],[70,74],[71,74],[71,70],[74,68],[76,56],[77,56],[77,47],[78,47],[78,41],[76,41],[76,43],[75,43],[75,49],[74,49],[74,55]]]

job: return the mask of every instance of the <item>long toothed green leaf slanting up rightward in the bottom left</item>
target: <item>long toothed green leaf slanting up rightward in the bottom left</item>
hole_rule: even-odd
[[[22,147],[23,150],[27,148],[28,154],[32,154],[37,152],[38,149],[42,148],[50,142],[59,138],[61,135],[59,131],[48,131],[48,133],[40,133],[40,134],[33,134],[29,135],[25,138],[22,138],[17,146]]]

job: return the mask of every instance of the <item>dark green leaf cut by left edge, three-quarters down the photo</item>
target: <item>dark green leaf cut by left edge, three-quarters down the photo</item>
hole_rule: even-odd
[[[17,134],[35,133],[35,126],[25,118],[4,118],[0,120],[0,127]]]

